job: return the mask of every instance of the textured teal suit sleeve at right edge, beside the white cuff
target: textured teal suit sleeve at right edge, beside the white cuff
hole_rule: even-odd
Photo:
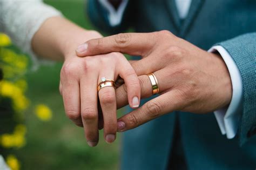
[[[240,145],[256,135],[256,32],[218,43],[230,53],[242,78],[242,103],[238,137]]]

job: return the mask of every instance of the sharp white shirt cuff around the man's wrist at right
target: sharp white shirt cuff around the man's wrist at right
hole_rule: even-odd
[[[217,45],[208,50],[208,52],[216,51],[219,52],[220,56],[226,63],[228,71],[230,72],[233,92],[230,105],[227,108],[221,108],[214,111],[214,115],[219,124],[221,133],[226,134],[228,139],[232,139],[237,133],[239,124],[239,109],[242,101],[242,78],[233,58],[224,49],[224,47]]]

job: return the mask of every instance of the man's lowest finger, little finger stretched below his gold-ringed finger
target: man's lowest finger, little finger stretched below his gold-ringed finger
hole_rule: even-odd
[[[147,121],[173,112],[182,105],[178,91],[173,90],[154,98],[136,110],[118,119],[118,132],[124,132],[132,128],[145,124]]]

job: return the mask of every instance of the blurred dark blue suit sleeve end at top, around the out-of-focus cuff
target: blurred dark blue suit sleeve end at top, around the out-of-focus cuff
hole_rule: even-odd
[[[125,7],[124,15],[119,24],[111,26],[107,9],[104,8],[102,4],[99,3],[99,0],[88,0],[87,1],[87,15],[89,16],[93,25],[99,31],[103,31],[107,34],[116,34],[119,32],[124,32],[134,25],[136,16],[136,6],[134,5],[135,1],[129,1]]]

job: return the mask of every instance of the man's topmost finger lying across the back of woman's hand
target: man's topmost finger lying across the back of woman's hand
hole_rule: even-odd
[[[109,37],[91,39],[80,45],[76,53],[79,57],[100,55],[113,51],[134,56],[144,56],[156,44],[156,34],[156,32],[119,33]]]

